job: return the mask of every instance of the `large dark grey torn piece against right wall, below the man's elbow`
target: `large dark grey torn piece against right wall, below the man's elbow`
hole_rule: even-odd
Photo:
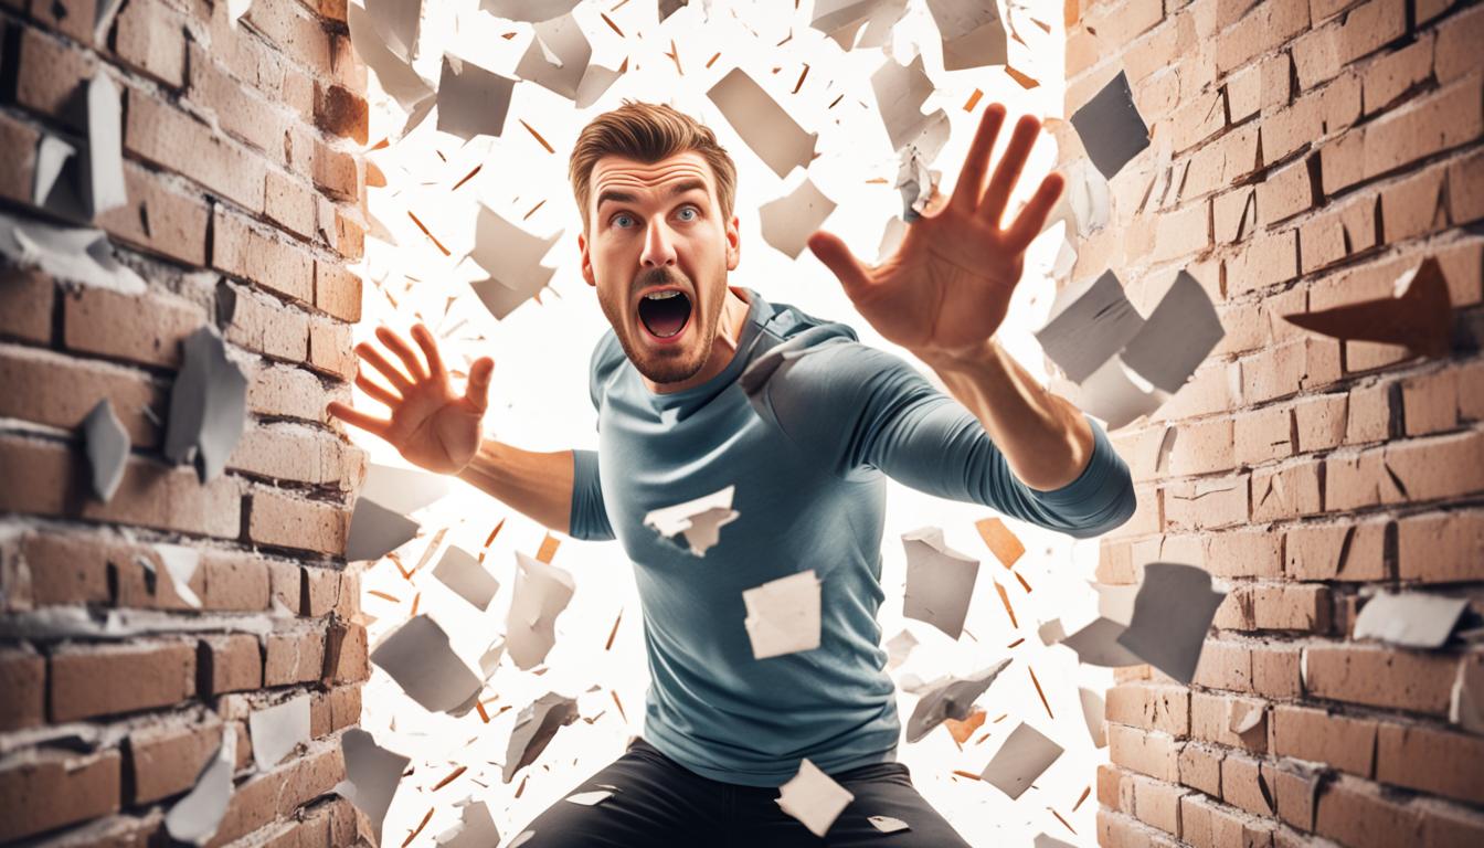
[[[1224,591],[1211,575],[1180,563],[1149,563],[1134,600],[1134,618],[1117,643],[1181,683],[1190,683],[1206,631]]]

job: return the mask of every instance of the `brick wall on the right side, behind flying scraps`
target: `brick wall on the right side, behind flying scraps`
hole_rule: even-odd
[[[1227,331],[1114,438],[1141,509],[1101,542],[1098,578],[1202,563],[1230,594],[1192,686],[1117,673],[1098,842],[1484,845],[1484,738],[1448,722],[1484,653],[1349,639],[1380,588],[1484,588],[1484,6],[1082,6],[1067,113],[1126,70],[1153,143],[1112,180],[1073,278],[1113,267],[1147,313],[1186,267]],[[1429,255],[1456,309],[1447,358],[1279,318],[1385,296]]]

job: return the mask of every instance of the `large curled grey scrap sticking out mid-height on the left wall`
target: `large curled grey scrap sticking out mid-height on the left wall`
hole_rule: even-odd
[[[181,343],[181,370],[171,388],[165,457],[194,462],[202,483],[221,475],[248,420],[248,376],[227,358],[217,328],[206,324]]]

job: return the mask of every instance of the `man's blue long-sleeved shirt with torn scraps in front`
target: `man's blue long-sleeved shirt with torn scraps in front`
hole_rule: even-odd
[[[901,720],[876,621],[886,477],[1076,538],[1126,521],[1134,489],[1091,419],[1080,477],[1027,487],[979,420],[905,359],[742,291],[736,355],[702,385],[654,394],[611,328],[598,342],[598,450],[573,453],[570,535],[617,538],[634,563],[651,677],[644,738],[703,777],[776,787],[801,757],[827,774],[896,759]],[[741,515],[705,557],[643,524],[727,486]],[[754,659],[742,591],[809,569],[821,581],[819,648]]]

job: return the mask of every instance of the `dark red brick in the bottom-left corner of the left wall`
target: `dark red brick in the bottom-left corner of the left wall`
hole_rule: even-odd
[[[116,748],[33,748],[0,766],[0,839],[6,842],[119,811]]]

